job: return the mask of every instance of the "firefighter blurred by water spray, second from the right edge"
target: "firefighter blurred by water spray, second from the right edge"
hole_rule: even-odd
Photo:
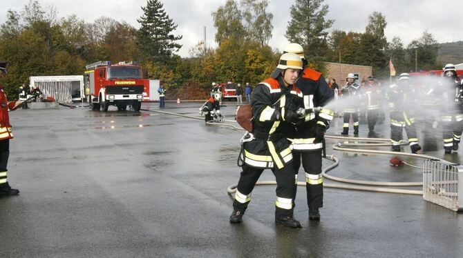
[[[390,143],[393,145],[393,151],[400,151],[400,141],[402,131],[405,129],[408,137],[408,144],[412,153],[421,150],[418,144],[417,129],[415,128],[415,118],[413,106],[410,103],[416,96],[413,88],[410,87],[410,78],[408,73],[404,72],[399,75],[397,83],[390,86],[388,92],[390,110]]]

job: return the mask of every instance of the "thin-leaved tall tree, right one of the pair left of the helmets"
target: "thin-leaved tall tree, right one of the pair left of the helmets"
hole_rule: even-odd
[[[273,14],[266,11],[268,3],[269,0],[241,1],[247,40],[258,42],[260,46],[267,45],[272,38]]]

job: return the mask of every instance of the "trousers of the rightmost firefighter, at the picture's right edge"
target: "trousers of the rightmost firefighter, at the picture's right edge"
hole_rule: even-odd
[[[463,114],[444,114],[441,121],[444,148],[453,148],[453,142],[460,143],[463,131]]]

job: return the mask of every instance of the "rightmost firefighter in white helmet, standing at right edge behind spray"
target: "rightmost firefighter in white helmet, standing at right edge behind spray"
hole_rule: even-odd
[[[442,88],[442,138],[445,153],[458,150],[463,130],[463,89],[462,81],[457,77],[453,63],[444,67],[440,88]]]

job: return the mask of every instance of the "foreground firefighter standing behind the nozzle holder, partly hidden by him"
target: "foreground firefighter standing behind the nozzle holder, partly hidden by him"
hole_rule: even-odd
[[[304,50],[298,43],[288,44],[283,51],[298,54],[303,63],[307,64]],[[297,175],[299,174],[302,161],[302,166],[305,170],[309,219],[319,220],[319,208],[323,207],[321,150],[323,148],[325,130],[333,119],[334,114],[332,110],[322,107],[332,99],[333,92],[323,75],[310,68],[304,68],[301,77],[296,81],[296,86],[303,93],[303,98],[299,103],[301,106],[299,107],[303,108],[304,119],[301,123],[294,124],[290,133],[295,181],[297,183]],[[321,111],[314,112],[314,108],[319,108]],[[294,184],[294,188],[296,192],[297,184]]]

